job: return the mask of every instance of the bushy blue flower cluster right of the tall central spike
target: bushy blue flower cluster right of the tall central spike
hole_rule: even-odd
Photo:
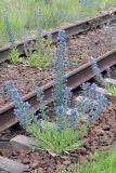
[[[82,84],[81,102],[77,103],[77,109],[81,115],[87,115],[90,123],[98,119],[107,106],[107,98],[100,92],[98,92],[98,85],[95,83],[90,84],[89,82]]]

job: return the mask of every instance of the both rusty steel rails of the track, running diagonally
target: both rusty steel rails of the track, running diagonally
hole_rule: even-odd
[[[69,37],[72,35],[77,35],[86,30],[96,28],[105,24],[107,21],[115,21],[116,19],[115,17],[116,17],[116,11],[113,11],[111,14],[105,14],[105,15],[79,23],[77,25],[66,27],[63,29],[66,31],[66,36]],[[53,41],[55,42],[57,37],[57,30],[52,31],[51,34],[53,36]],[[47,37],[47,34],[44,34],[44,37]],[[36,42],[36,39],[34,39],[34,41]],[[23,44],[24,42],[17,43],[17,49],[20,51],[20,54],[24,53]],[[9,51],[10,51],[10,46],[7,46],[0,50],[0,63],[8,59]],[[111,51],[98,58],[98,65],[101,71],[104,71],[106,67],[111,67],[115,64],[116,64],[116,50]],[[68,74],[67,84],[74,90],[80,84],[82,84],[83,82],[93,78],[93,76],[94,75],[91,70],[91,65],[90,63],[87,63]],[[47,104],[50,104],[52,102],[52,82],[43,85],[42,90],[44,93],[44,99],[47,101]],[[35,92],[30,92],[29,94],[25,95],[23,99],[29,102],[31,106],[35,107],[35,109],[37,109],[38,103],[36,99]],[[0,108],[0,132],[17,123],[17,120],[13,115],[13,108],[14,106],[12,103]]]

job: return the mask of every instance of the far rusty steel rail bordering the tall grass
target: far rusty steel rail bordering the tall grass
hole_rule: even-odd
[[[63,27],[61,29],[65,30],[66,36],[69,37],[69,36],[73,36],[73,35],[78,35],[78,34],[81,34],[83,31],[90,30],[92,28],[96,28],[96,27],[107,23],[108,21],[112,21],[112,22],[116,21],[116,10],[114,10],[111,13],[103,14],[103,15],[100,15],[98,17],[83,21],[83,22],[80,22],[80,23],[75,24],[75,25]],[[59,30],[52,30],[50,32],[44,32],[43,37],[47,38],[47,35],[51,34],[52,38],[53,38],[53,42],[56,42],[57,32],[59,32]],[[36,43],[36,36],[31,37],[31,38],[28,38],[28,42],[31,41],[31,40],[34,41],[34,43]],[[25,52],[24,52],[24,41],[17,41],[16,46],[17,46],[20,55],[25,54]],[[9,44],[5,45],[4,48],[0,49],[0,63],[7,61],[9,58],[10,50],[11,49],[10,49]],[[35,44],[34,44],[34,50],[35,50]]]

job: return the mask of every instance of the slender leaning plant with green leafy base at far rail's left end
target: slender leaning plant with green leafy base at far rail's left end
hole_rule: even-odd
[[[8,35],[10,46],[11,46],[11,52],[10,52],[10,58],[9,59],[12,64],[17,64],[17,63],[21,62],[21,58],[20,58],[18,51],[16,49],[16,44],[14,42],[14,35],[12,32],[10,18],[9,18],[9,15],[8,15],[7,12],[3,13],[3,16],[4,16],[5,30],[7,30],[7,35]]]

